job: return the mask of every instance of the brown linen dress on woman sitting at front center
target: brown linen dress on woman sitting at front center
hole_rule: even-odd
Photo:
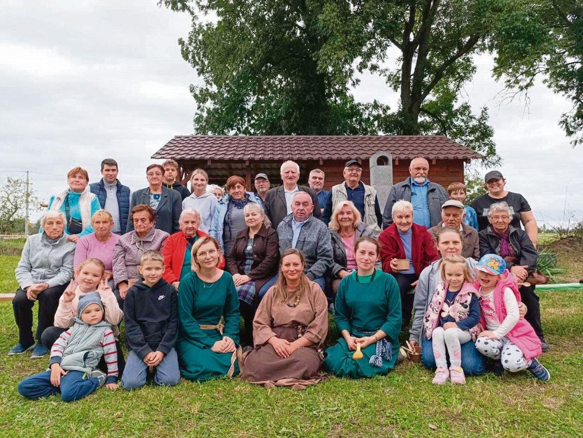
[[[255,314],[255,348],[245,357],[241,380],[291,389],[305,389],[324,380],[325,374],[320,372],[321,348],[328,334],[328,302],[318,284],[309,283],[310,289],[296,307],[274,300],[273,287],[267,291]],[[289,300],[296,296],[292,295]],[[290,342],[304,336],[314,344],[297,348],[289,357],[282,358],[268,343],[273,336]]]

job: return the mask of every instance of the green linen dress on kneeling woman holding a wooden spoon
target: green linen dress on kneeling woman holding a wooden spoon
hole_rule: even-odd
[[[385,375],[391,371],[399,356],[401,332],[401,294],[394,277],[380,269],[370,276],[357,276],[355,271],[340,282],[335,306],[336,327],[340,332],[348,330],[352,336],[363,337],[380,329],[387,333],[392,358],[383,359],[380,368],[370,365],[368,361],[377,346],[373,343],[361,350],[362,359],[353,359],[354,350],[349,350],[344,338],[340,337],[325,351],[324,369],[336,376],[353,379]]]

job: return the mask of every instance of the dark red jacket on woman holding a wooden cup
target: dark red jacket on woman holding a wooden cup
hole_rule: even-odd
[[[436,261],[439,255],[436,243],[431,234],[427,232],[426,227],[413,223],[412,229],[411,258],[413,259],[413,269],[415,269],[416,275],[419,275],[423,269],[429,266],[429,263]],[[394,223],[382,230],[381,235],[378,236],[378,243],[381,244],[382,270],[392,273],[391,260],[407,258],[401,236],[399,236],[397,226]]]

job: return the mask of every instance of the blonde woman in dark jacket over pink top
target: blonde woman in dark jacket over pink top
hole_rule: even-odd
[[[360,212],[352,201],[340,201],[332,212],[330,237],[334,263],[332,265],[332,291],[336,294],[340,280],[356,269],[354,243],[361,236],[374,236],[374,230],[361,220]],[[378,268],[380,268],[380,263]]]

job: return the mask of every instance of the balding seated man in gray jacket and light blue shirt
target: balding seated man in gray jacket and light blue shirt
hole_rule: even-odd
[[[297,248],[305,257],[305,273],[324,290],[324,274],[332,266],[332,241],[328,227],[312,216],[310,194],[297,192],[291,201],[291,214],[278,225],[279,252]]]

